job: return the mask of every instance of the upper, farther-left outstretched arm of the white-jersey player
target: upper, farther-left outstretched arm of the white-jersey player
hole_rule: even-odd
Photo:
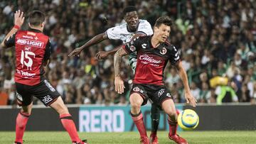
[[[106,40],[106,39],[107,39],[106,33],[100,33],[98,35],[95,35],[95,37],[93,37],[92,39],[87,41],[87,43],[85,43],[81,47],[75,48],[75,50],[70,52],[70,54],[68,56],[69,57],[71,57],[71,56],[79,56],[80,53],[82,52],[82,50],[84,50],[85,48],[89,48],[90,46],[95,45],[97,43],[100,43],[100,42],[102,42],[102,40]]]

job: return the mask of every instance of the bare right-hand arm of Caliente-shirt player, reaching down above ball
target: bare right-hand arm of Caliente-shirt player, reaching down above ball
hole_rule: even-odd
[[[191,106],[196,107],[197,101],[196,101],[195,97],[191,94],[191,91],[190,91],[190,88],[188,85],[188,76],[186,74],[185,69],[183,68],[181,61],[176,62],[176,68],[178,70],[178,74],[181,77],[181,80],[182,80],[184,88],[185,88],[186,102],[191,104]]]

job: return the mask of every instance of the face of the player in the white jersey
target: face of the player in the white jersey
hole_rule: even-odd
[[[129,30],[136,31],[137,24],[139,22],[139,17],[137,15],[137,11],[131,11],[129,13],[126,13],[126,15],[124,16],[124,21],[127,22]]]

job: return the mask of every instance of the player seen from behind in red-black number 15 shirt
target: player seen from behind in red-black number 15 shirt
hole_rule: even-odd
[[[60,114],[60,121],[73,144],[86,144],[86,140],[80,140],[72,116],[63,103],[60,94],[44,77],[44,67],[48,65],[50,57],[50,39],[43,34],[45,15],[41,11],[32,11],[28,16],[28,31],[19,28],[24,22],[23,12],[20,10],[14,14],[14,28],[6,35],[1,43],[2,48],[15,46],[16,72],[15,85],[16,97],[21,111],[16,118],[15,144],[23,143],[23,133],[26,123],[31,115],[33,96],[40,99],[44,105],[50,106]]]

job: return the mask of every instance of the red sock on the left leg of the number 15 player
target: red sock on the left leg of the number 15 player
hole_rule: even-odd
[[[28,122],[29,114],[19,112],[16,118],[16,142],[23,143],[23,134],[26,129],[26,123]]]

